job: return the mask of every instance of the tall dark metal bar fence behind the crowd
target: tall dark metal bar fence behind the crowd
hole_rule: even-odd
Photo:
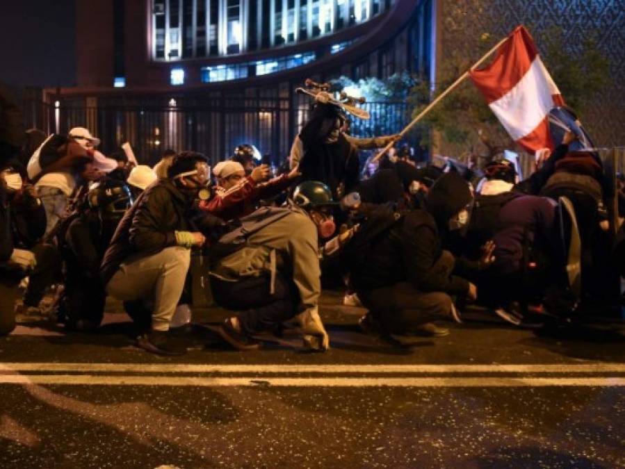
[[[403,102],[366,103],[371,120],[352,119],[352,135],[371,137],[396,133],[409,122]],[[236,145],[251,143],[279,164],[289,155],[293,138],[307,122],[309,100],[280,98],[170,99],[165,104],[90,106],[89,99],[24,104],[27,126],[67,133],[84,126],[102,140],[105,154],[130,142],[141,163],[159,161],[165,149],[194,149],[215,163]]]

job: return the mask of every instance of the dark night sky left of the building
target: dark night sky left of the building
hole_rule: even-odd
[[[76,1],[88,0],[2,2],[0,82],[15,88],[75,84]]]

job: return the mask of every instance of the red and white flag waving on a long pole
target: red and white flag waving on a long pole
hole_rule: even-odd
[[[528,151],[553,149],[549,111],[564,101],[526,28],[517,26],[492,63],[469,76],[519,145]]]

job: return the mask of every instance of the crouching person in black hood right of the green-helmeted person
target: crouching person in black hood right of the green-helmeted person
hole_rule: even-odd
[[[398,212],[378,206],[368,215],[343,252],[369,310],[361,319],[365,331],[390,339],[389,334],[423,334],[428,324],[430,335],[442,336],[446,329],[432,321],[461,322],[452,297],[474,301],[477,288],[458,274],[480,265],[454,258],[443,249],[442,236],[466,226],[472,200],[462,176],[448,173],[430,188],[424,208]]]

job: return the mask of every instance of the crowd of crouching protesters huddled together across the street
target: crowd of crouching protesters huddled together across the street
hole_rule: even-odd
[[[519,181],[505,159],[463,171],[416,165],[405,149],[363,168],[360,150],[399,135],[354,138],[347,124],[318,99],[274,177],[252,145],[212,168],[199,151],[167,151],[152,168],[104,156],[83,127],[27,132],[0,167],[0,334],[44,315],[50,292],[68,331],[96,331],[112,297],[139,347],[184,353],[170,328],[193,311],[192,252],[232,311],[218,332],[241,350],[285,324],[328,349],[322,284],[366,308],[365,334],[393,344],[449,334],[441,324],[462,322],[468,304],[529,326],[612,295],[615,188],[573,131]]]

